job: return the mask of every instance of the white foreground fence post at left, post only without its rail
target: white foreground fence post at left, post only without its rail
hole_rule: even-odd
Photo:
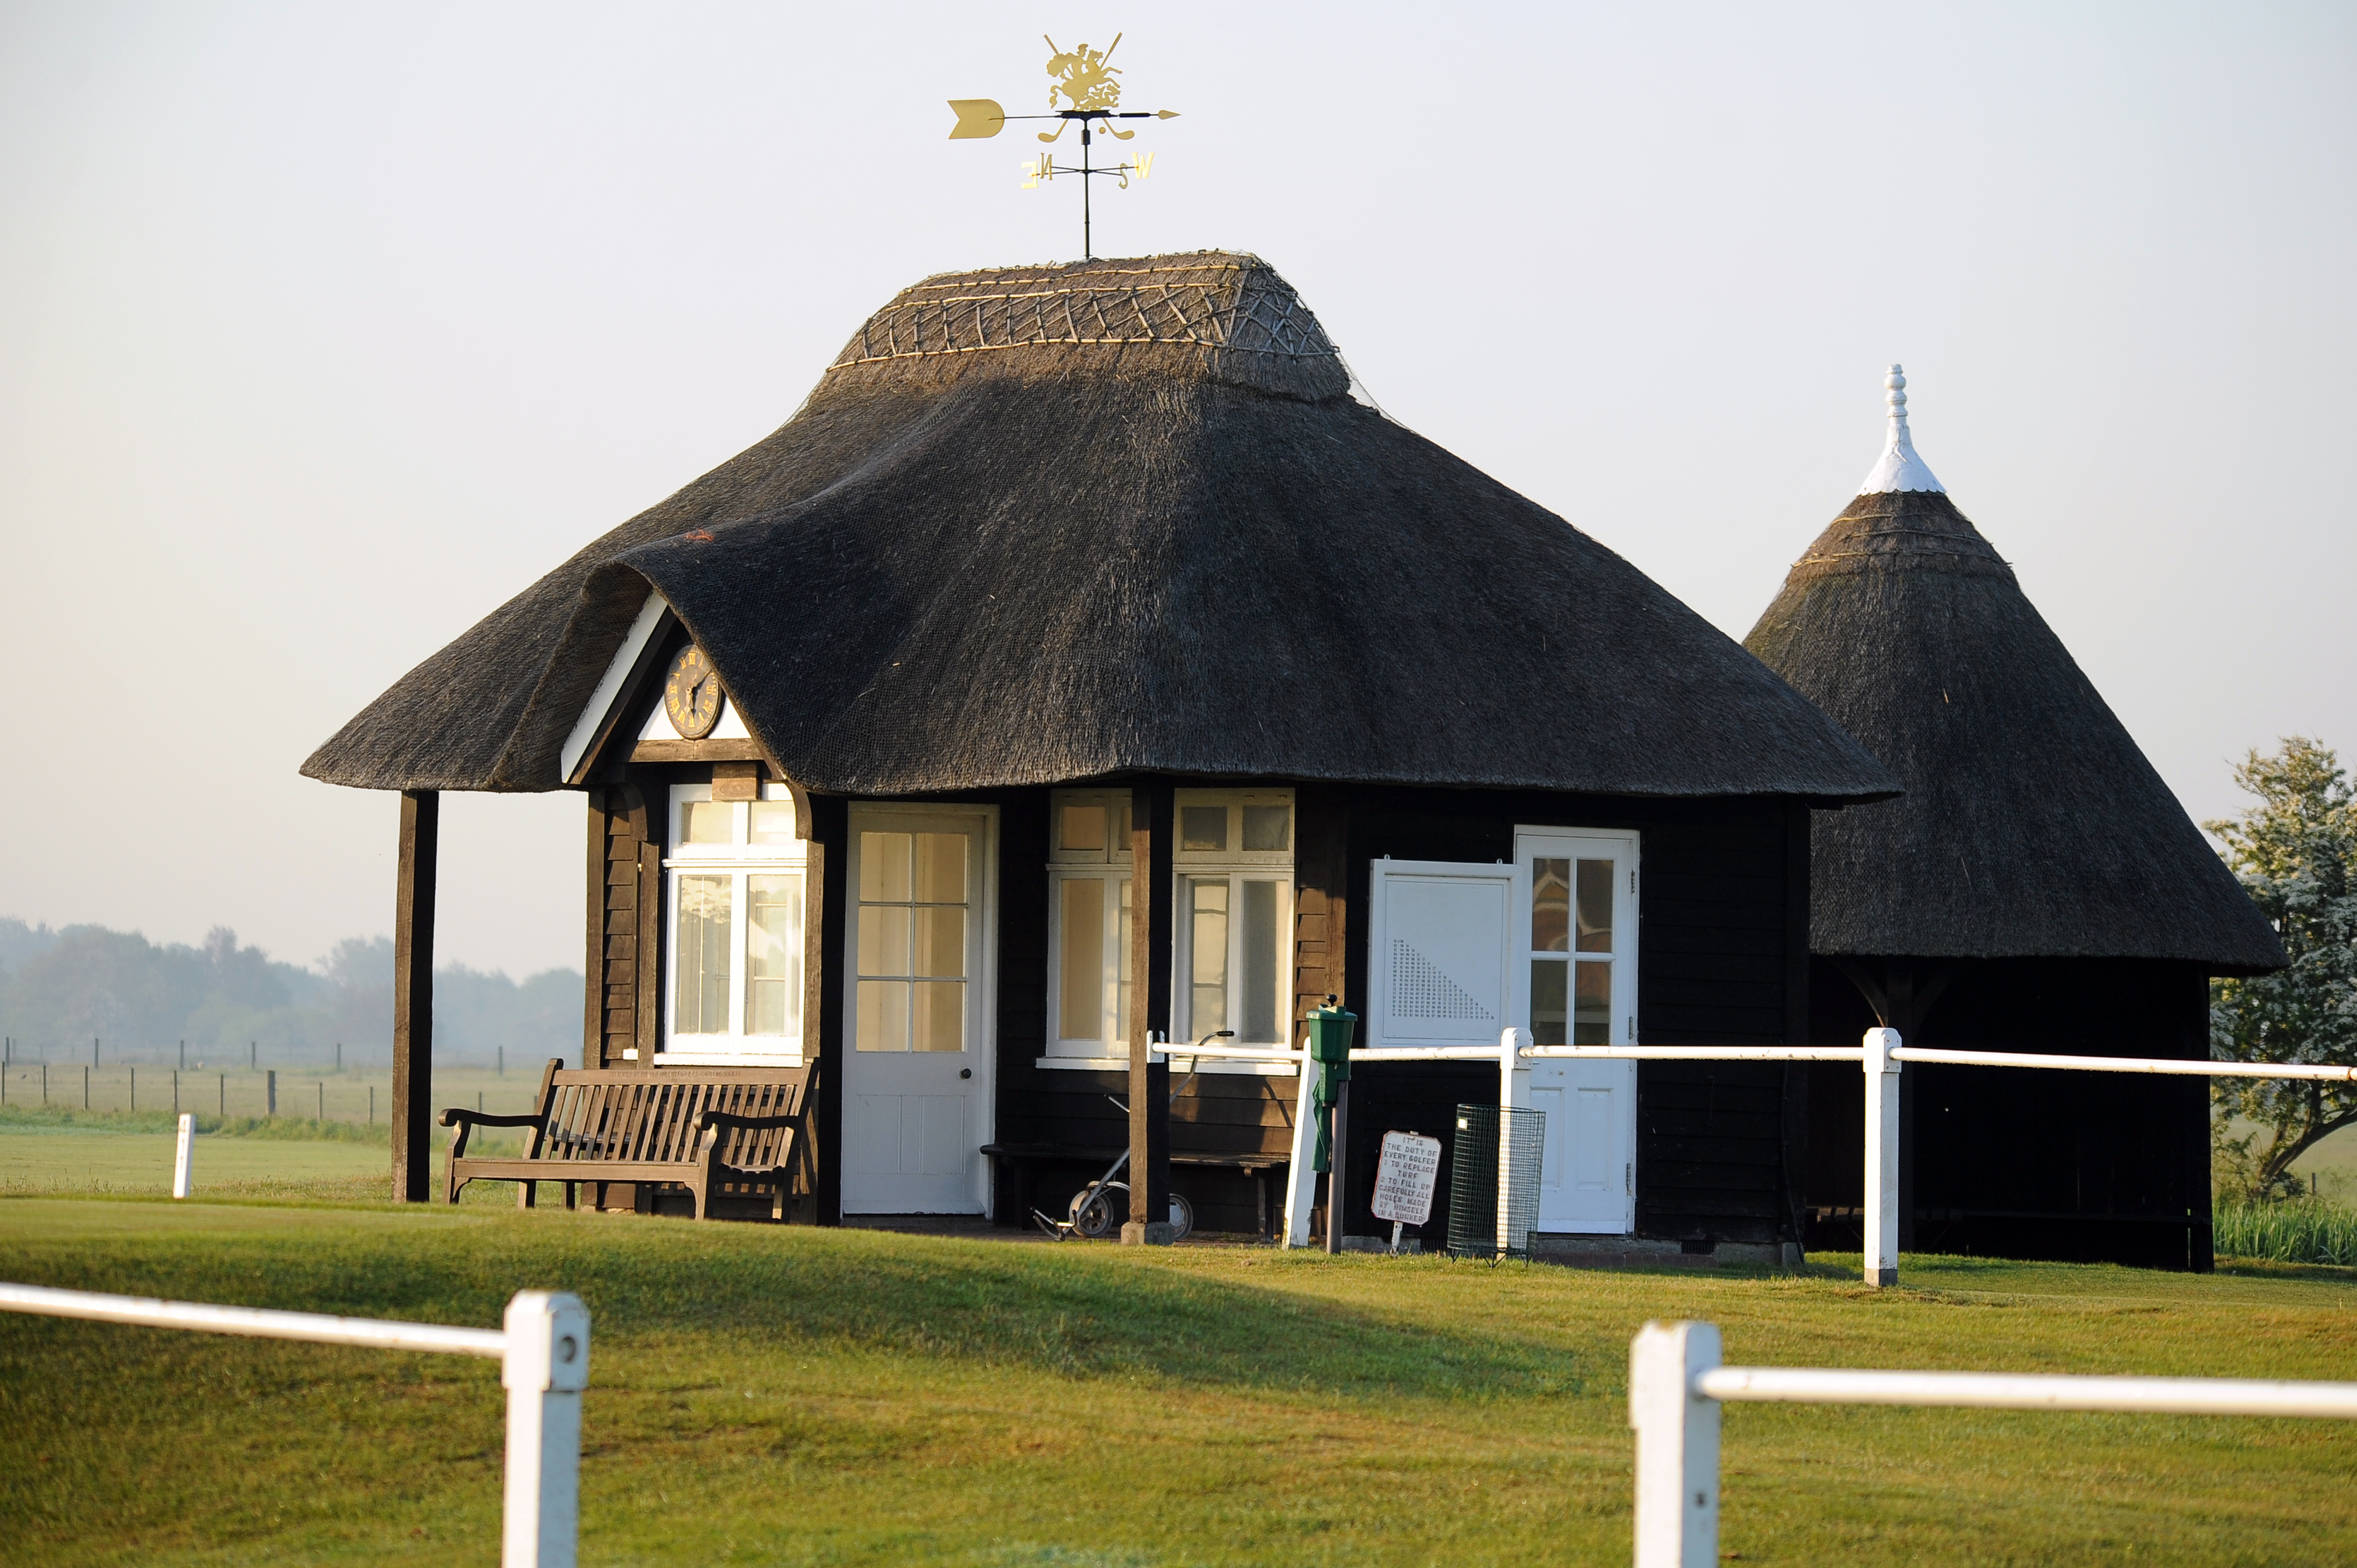
[[[507,1304],[507,1526],[500,1568],[573,1568],[582,1511],[582,1389],[589,1309],[521,1290]]]

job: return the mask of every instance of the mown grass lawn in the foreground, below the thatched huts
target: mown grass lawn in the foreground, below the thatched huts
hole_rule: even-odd
[[[379,1153],[382,1158],[382,1153]],[[2357,1375],[2357,1283],[1907,1259],[1909,1287],[1259,1247],[0,1200],[0,1278],[493,1325],[594,1313],[585,1563],[1624,1563],[1626,1346]],[[497,1559],[497,1368],[0,1316],[0,1556]],[[2357,1561],[2357,1427],[1730,1408],[1744,1563]]]

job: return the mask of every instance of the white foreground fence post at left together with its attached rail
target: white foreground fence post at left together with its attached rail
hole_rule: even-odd
[[[507,1325],[497,1330],[111,1297],[42,1285],[0,1285],[0,1311],[497,1361],[500,1384],[507,1386],[500,1568],[573,1568],[580,1544],[582,1389],[589,1386],[589,1309],[580,1297],[523,1290],[507,1304]]]

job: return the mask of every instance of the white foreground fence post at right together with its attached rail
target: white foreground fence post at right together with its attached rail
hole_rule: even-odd
[[[1716,1568],[1725,1401],[2357,1419],[2357,1382],[1728,1368],[1718,1353],[1711,1323],[1648,1323],[1629,1342],[1636,1568]]]

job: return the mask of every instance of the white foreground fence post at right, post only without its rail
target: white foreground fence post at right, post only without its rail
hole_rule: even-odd
[[[1716,1365],[1716,1323],[1648,1323],[1629,1342],[1636,1568],[1718,1566],[1718,1401],[1695,1391]]]

